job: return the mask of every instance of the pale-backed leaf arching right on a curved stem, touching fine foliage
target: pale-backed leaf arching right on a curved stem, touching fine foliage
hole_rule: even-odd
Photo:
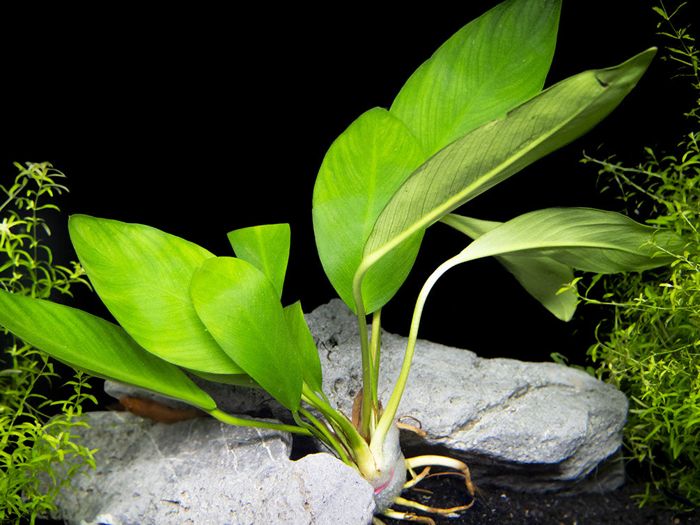
[[[652,244],[653,243],[653,244]],[[547,208],[518,216],[478,237],[455,264],[491,255],[535,255],[601,274],[638,272],[668,264],[682,249],[671,230],[652,228],[612,211]]]

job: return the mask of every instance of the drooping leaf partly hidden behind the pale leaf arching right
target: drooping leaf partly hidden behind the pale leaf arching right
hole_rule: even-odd
[[[472,239],[477,239],[503,224],[455,214],[448,214],[441,221]],[[556,318],[561,321],[571,320],[576,311],[576,294],[573,290],[562,293],[559,293],[559,290],[564,284],[573,281],[573,269],[548,257],[497,255],[496,260]]]

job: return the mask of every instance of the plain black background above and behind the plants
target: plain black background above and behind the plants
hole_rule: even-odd
[[[226,232],[288,222],[290,266],[283,302],[311,311],[335,297],[311,229],[311,191],[323,155],[360,113],[388,107],[408,76],[451,34],[497,1],[420,8],[76,10],[8,16],[3,67],[6,146],[13,160],[48,160],[71,190],[52,223],[57,262],[74,258],[69,214],[146,223],[230,255]],[[564,0],[547,85],[612,66],[657,45],[650,1]],[[615,209],[582,151],[630,164],[643,146],[672,147],[691,99],[658,58],[601,125],[478,197],[463,210],[489,220],[549,206]],[[601,146],[602,145],[602,146]],[[596,152],[596,148],[601,146]],[[416,267],[384,309],[405,334],[424,279],[463,248],[436,225]],[[78,292],[78,290],[76,290]],[[71,302],[105,314],[88,293]],[[451,270],[426,306],[421,337],[482,356],[584,358],[603,312],[562,323],[492,260]]]

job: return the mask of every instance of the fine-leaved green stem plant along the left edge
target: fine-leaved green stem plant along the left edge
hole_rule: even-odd
[[[20,173],[12,186],[0,186],[0,286],[12,293],[48,298],[52,292],[71,295],[71,285],[85,283],[83,269],[55,265],[44,237],[50,229],[42,212],[58,211],[53,198],[64,191],[56,181],[64,175],[48,162],[15,163]],[[55,509],[59,489],[78,468],[90,464],[92,454],[71,436],[71,428],[85,426],[81,403],[94,401],[90,388],[76,374],[73,394],[64,400],[42,395],[58,374],[45,354],[12,335],[2,336],[0,360],[0,523],[34,523],[38,514]],[[45,412],[59,414],[52,418]]]

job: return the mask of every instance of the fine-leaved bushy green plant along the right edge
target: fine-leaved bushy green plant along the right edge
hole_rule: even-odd
[[[680,64],[700,92],[698,52],[687,29],[675,29],[663,7],[657,13],[673,38],[668,59]],[[682,10],[680,11],[682,13]],[[629,456],[648,468],[652,482],[640,495],[674,506],[700,505],[700,101],[686,113],[694,131],[671,153],[645,148],[646,160],[629,168],[612,160],[585,158],[600,167],[606,189],[619,188],[631,214],[675,230],[685,243],[662,271],[596,276],[604,294],[584,300],[612,307],[598,325],[598,342],[589,355],[598,377],[617,384],[629,396],[625,443]],[[654,490],[655,488],[661,489]],[[671,496],[671,498],[668,498]]]

